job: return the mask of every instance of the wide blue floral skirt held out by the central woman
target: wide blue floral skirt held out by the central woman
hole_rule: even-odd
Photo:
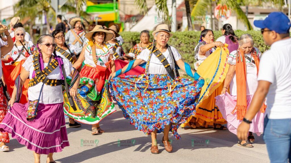
[[[109,82],[111,95],[130,124],[146,135],[157,129],[170,131],[176,139],[179,126],[195,111],[204,80],[194,81],[169,75],[115,77]]]

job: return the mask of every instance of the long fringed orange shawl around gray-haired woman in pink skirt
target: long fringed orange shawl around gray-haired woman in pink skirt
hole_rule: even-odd
[[[255,61],[257,72],[259,71],[260,59],[257,56],[255,48],[252,49],[251,57]],[[242,120],[246,114],[247,101],[246,101],[246,59],[241,49],[237,50],[236,66],[235,66],[236,82],[237,82],[237,105],[231,112],[234,114],[237,111],[237,119]],[[266,105],[265,102],[262,105],[260,111],[265,113]]]

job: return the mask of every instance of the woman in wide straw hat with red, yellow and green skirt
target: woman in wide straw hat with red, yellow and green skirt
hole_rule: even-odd
[[[116,111],[114,105],[112,107],[110,102],[104,104],[104,107],[108,106],[107,108],[99,108],[103,106],[99,104],[102,102],[105,82],[110,72],[115,71],[112,46],[105,43],[113,38],[113,33],[104,30],[100,25],[96,25],[85,36],[90,41],[84,46],[79,59],[74,63],[75,68],[79,68],[83,61],[85,64],[80,72],[81,81],[77,94],[78,98],[75,99],[78,108],[77,111],[73,111],[70,107],[67,108],[67,115],[78,122],[92,124],[92,135],[97,135],[98,133],[104,133],[104,130],[99,126],[100,120]],[[106,91],[104,90],[104,92]]]

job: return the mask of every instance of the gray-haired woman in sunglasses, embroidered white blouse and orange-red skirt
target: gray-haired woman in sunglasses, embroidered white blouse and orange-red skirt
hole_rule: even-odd
[[[25,29],[23,27],[18,27],[14,31],[15,34],[15,43],[7,55],[5,55],[2,61],[5,63],[3,67],[3,75],[7,84],[8,92],[12,95],[14,81],[16,77],[20,74],[21,66],[24,61],[30,56],[35,54],[36,47],[31,41],[26,41]],[[27,89],[28,89],[28,80],[23,88],[22,98],[20,103],[25,104],[28,99]]]

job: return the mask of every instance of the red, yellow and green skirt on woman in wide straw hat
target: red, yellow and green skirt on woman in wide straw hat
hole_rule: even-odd
[[[107,115],[116,111],[109,95],[105,77],[107,76],[108,78],[110,72],[98,73],[95,67],[85,65],[80,74],[78,94],[77,97],[73,98],[76,110],[70,106],[68,96],[64,92],[64,113],[77,122],[97,124]],[[70,84],[70,79],[67,79],[67,82]]]

